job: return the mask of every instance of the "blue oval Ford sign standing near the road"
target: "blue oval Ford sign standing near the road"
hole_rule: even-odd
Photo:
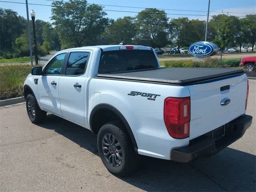
[[[218,53],[218,46],[210,42],[200,41],[190,45],[188,50],[190,54],[196,57],[207,57]]]

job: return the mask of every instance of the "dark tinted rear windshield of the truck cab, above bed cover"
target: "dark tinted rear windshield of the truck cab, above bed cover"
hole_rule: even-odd
[[[99,74],[158,68],[152,50],[117,50],[102,52]]]

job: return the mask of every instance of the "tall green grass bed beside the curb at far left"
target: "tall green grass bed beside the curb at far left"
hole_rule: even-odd
[[[0,65],[0,100],[22,96],[23,83],[30,65]]]

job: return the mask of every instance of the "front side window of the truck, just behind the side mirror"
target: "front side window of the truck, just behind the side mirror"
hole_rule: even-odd
[[[64,62],[66,53],[62,53],[54,57],[46,66],[44,74],[60,75],[61,67]]]

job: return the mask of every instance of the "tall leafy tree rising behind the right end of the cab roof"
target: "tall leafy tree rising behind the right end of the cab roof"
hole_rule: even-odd
[[[137,15],[136,25],[138,34],[136,39],[139,44],[152,47],[162,47],[168,43],[167,26],[168,18],[164,10],[146,8]]]

